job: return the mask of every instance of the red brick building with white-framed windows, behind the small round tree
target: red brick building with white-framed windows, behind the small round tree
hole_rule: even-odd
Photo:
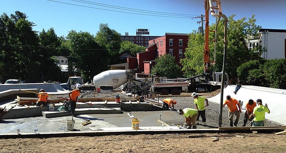
[[[149,40],[146,52],[137,53],[139,72],[149,73],[150,67],[155,64],[153,61],[165,53],[175,56],[175,61],[181,67],[180,59],[185,58],[184,53],[188,47],[188,39],[188,34],[166,33],[164,36]]]

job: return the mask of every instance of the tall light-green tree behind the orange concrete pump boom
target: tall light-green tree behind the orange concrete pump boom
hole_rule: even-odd
[[[245,43],[245,38],[249,35],[257,35],[261,26],[255,24],[256,19],[254,15],[248,18],[240,20],[234,20],[235,15],[229,17],[228,24],[228,47],[227,47],[227,59],[226,59],[226,72],[230,76],[237,76],[236,69],[242,63],[250,60],[261,59],[261,48],[255,48],[249,50]],[[215,24],[210,25],[210,31],[215,30]],[[211,70],[216,72],[222,71],[223,64],[223,20],[217,26],[217,52],[216,62],[211,66]],[[215,34],[210,33],[209,39],[215,39]],[[183,65],[184,75],[186,77],[201,74],[203,72],[203,46],[204,39],[201,34],[193,31],[189,37],[188,48],[186,48],[185,59],[181,59]],[[209,43],[210,59],[214,59],[214,42]]]

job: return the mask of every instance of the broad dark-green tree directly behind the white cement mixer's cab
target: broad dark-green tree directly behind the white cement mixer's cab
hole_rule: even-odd
[[[108,53],[88,32],[70,31],[63,46],[69,48],[69,72],[77,71],[85,79],[108,70]]]

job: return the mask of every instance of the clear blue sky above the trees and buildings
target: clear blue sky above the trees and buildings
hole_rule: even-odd
[[[237,20],[255,15],[256,24],[264,29],[286,29],[285,6],[286,0],[221,0],[222,13],[227,17],[235,14]],[[107,23],[122,35],[136,35],[136,29],[149,29],[150,36],[191,33],[200,26],[200,19],[195,17],[205,14],[204,0],[1,0],[0,10],[8,15],[23,12],[37,25],[33,30],[54,28],[57,36],[66,36],[71,30],[96,35],[100,23]],[[209,18],[210,24],[215,23],[214,17]]]

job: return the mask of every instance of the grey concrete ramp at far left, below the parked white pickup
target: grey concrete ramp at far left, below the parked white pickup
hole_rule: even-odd
[[[66,94],[69,92],[63,89],[60,83],[0,84],[0,92],[11,89],[44,89],[48,94]]]

